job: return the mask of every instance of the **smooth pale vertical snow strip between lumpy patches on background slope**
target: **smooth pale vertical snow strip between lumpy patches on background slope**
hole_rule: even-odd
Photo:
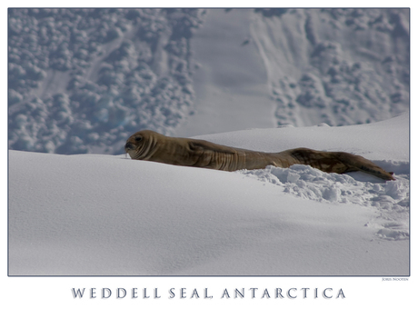
[[[192,40],[199,65],[194,72],[196,111],[176,128],[176,135],[274,127],[263,59],[251,44],[253,19],[252,10],[208,11]]]

